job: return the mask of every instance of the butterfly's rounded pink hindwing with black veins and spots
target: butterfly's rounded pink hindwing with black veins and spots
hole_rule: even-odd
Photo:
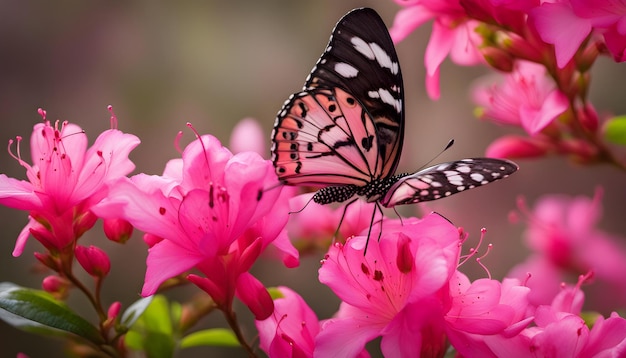
[[[292,95],[272,140],[276,172],[287,184],[364,186],[382,171],[372,118],[339,88]]]

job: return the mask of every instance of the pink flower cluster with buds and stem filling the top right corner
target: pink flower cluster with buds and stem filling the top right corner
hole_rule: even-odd
[[[474,88],[480,118],[521,127],[489,146],[492,157],[570,156],[581,163],[626,168],[609,145],[614,130],[587,95],[598,56],[625,61],[623,1],[397,0],[403,9],[390,30],[396,42],[433,19],[426,48],[426,89],[440,96],[439,67],[486,64],[501,74]],[[498,78],[500,77],[500,78]],[[621,133],[621,132],[620,132]],[[619,135],[621,138],[621,135]],[[619,139],[618,144],[624,144]]]

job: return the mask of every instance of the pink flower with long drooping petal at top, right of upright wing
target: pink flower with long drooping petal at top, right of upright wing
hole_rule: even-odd
[[[415,0],[396,1],[405,8],[396,15],[389,30],[395,43],[426,21],[434,20],[430,40],[426,47],[426,91],[432,99],[439,98],[439,66],[450,55],[460,65],[475,65],[483,62],[476,46],[482,42],[475,32],[477,21],[470,20],[463,7],[455,1]]]

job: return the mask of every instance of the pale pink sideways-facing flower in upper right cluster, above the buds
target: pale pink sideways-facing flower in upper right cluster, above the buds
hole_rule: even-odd
[[[569,107],[567,97],[546,76],[541,65],[518,61],[501,84],[480,84],[474,101],[482,107],[481,118],[517,125],[536,135]]]

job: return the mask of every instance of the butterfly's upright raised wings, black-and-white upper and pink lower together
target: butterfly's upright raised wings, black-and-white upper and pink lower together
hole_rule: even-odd
[[[351,11],[335,26],[304,91],[278,114],[272,155],[279,178],[364,186],[391,176],[402,149],[403,102],[398,57],[384,22],[372,9]]]

